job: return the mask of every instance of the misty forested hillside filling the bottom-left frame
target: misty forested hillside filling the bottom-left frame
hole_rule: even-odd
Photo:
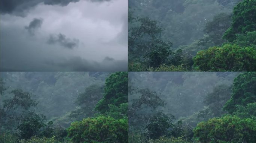
[[[123,143],[127,72],[1,72],[1,143]]]

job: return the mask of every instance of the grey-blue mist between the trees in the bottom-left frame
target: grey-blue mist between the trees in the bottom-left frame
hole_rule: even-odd
[[[109,72],[1,72],[1,79],[7,92],[21,89],[31,93],[31,98],[38,102],[36,112],[44,114],[47,120],[58,120],[61,125],[67,127],[67,123],[59,120],[59,117],[70,114],[76,109],[76,99],[79,94],[85,92],[90,85],[104,85],[104,80]],[[10,98],[6,94],[1,97]],[[101,95],[102,96],[102,95]]]

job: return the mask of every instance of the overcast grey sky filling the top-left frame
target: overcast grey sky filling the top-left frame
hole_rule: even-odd
[[[127,71],[127,0],[1,0],[1,71]]]

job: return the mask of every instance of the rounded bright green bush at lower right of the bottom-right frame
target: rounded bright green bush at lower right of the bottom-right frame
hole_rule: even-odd
[[[254,143],[256,122],[251,118],[224,116],[199,123],[194,138],[207,143]]]

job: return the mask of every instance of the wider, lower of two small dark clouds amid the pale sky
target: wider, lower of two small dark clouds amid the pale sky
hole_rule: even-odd
[[[66,38],[64,34],[58,34],[58,35],[50,35],[49,39],[47,41],[48,44],[60,44],[61,46],[73,49],[74,47],[77,47],[79,44],[79,39],[70,39]]]

